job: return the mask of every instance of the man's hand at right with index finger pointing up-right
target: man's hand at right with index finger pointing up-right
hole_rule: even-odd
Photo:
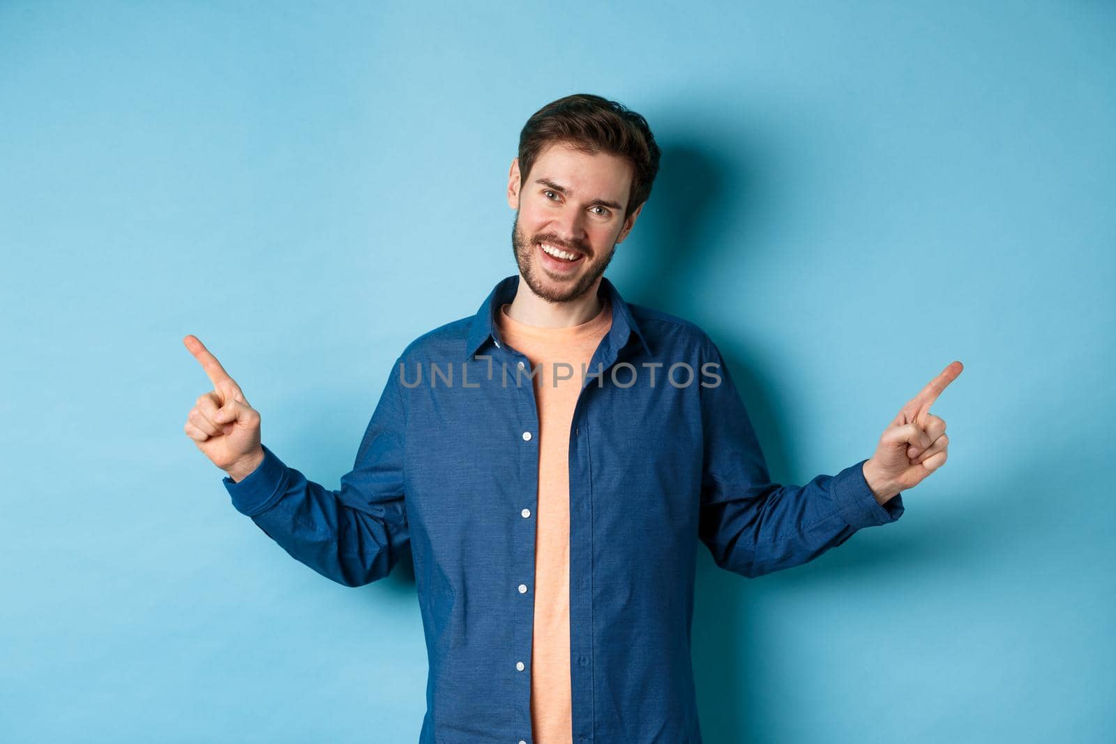
[[[875,454],[864,463],[864,479],[879,504],[918,485],[945,463],[945,421],[932,415],[930,406],[963,368],[960,361],[951,363],[884,429]]]

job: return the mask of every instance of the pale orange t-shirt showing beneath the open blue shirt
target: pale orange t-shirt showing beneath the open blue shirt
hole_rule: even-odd
[[[581,393],[581,366],[613,325],[608,301],[593,320],[567,328],[541,328],[512,320],[500,308],[497,327],[504,342],[532,367],[539,414],[539,501],[535,533],[535,625],[531,639],[531,728],[535,744],[574,740],[569,674],[569,428]],[[569,376],[558,379],[558,375]],[[571,375],[571,376],[570,376]]]

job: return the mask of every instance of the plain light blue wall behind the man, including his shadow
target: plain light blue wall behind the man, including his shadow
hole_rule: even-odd
[[[408,567],[347,589],[237,513],[181,339],[337,487],[588,91],[664,151],[608,276],[721,346],[776,480],[965,365],[898,523],[752,581],[701,549],[705,740],[1113,741],[1116,6],[469,4],[0,3],[0,738],[417,738]]]

